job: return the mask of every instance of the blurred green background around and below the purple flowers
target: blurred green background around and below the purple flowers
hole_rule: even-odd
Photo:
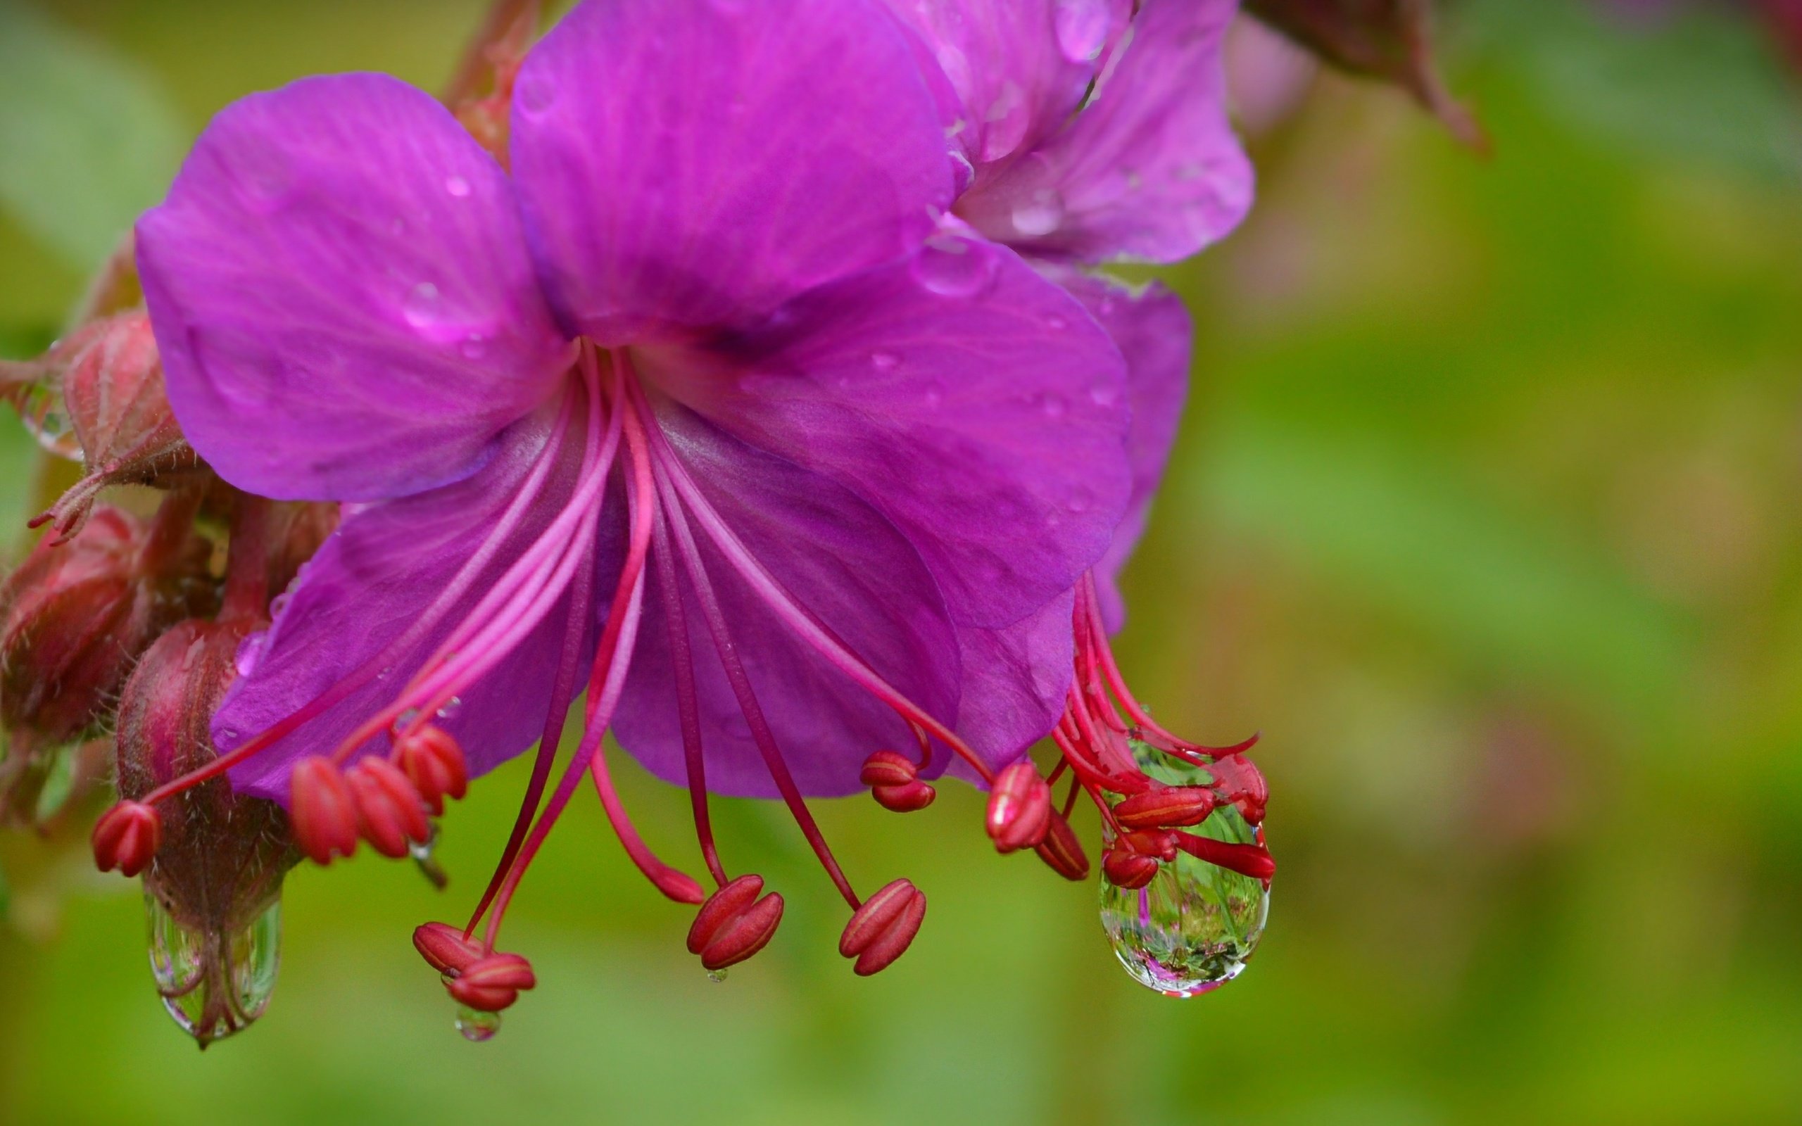
[[[0,0],[0,353],[222,104],[434,86],[478,9]],[[1247,49],[1258,209],[1168,274],[1195,391],[1121,658],[1175,730],[1263,731],[1281,870],[1240,982],[1133,985],[1094,883],[997,858],[946,787],[820,804],[854,879],[932,895],[874,980],[786,816],[730,804],[789,912],[715,985],[582,804],[510,915],[541,989],[467,1045],[407,933],[469,908],[514,769],[449,820],[443,895],[297,868],[276,1000],[205,1056],[135,888],[79,832],[7,841],[0,1121],[1802,1121],[1802,95],[1726,7],[1447,23],[1490,159],[1388,90],[1288,106]],[[29,467],[0,425],[14,548]],[[678,854],[687,802],[622,773]]]

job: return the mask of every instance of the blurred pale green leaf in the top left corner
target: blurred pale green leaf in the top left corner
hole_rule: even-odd
[[[187,130],[124,56],[0,0],[0,207],[97,267],[175,175]]]

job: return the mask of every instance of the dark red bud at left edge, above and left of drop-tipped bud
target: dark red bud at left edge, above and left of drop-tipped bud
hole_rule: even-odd
[[[209,609],[209,555],[187,528],[153,531],[115,508],[67,544],[40,540],[0,586],[0,722],[38,744],[99,730],[132,661]]]

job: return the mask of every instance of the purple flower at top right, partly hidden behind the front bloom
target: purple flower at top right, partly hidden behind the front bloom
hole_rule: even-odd
[[[1110,627],[1115,575],[1144,530],[1193,335],[1164,285],[1133,290],[1081,265],[1171,263],[1231,232],[1252,169],[1225,110],[1222,45],[1238,0],[890,0],[941,70],[960,195],[953,213],[1029,256],[1126,357],[1133,486],[1096,568]]]

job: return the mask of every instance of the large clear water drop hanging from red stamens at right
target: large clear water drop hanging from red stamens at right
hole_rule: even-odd
[[[1209,780],[1202,769],[1173,766],[1142,746],[1135,748],[1135,758],[1169,785]],[[1193,832],[1231,843],[1261,840],[1233,805],[1215,809]],[[1160,865],[1139,890],[1101,877],[1101,928],[1114,955],[1135,982],[1166,996],[1197,996],[1236,978],[1258,949],[1269,913],[1270,888],[1263,881],[1188,852]]]

